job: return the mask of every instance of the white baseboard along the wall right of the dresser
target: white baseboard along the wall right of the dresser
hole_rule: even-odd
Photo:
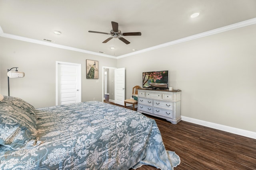
[[[229,133],[234,133],[236,135],[241,135],[241,136],[244,136],[244,137],[250,137],[252,139],[256,139],[256,132],[246,131],[246,130],[243,130],[243,129],[238,129],[238,128],[235,128],[235,127],[220,125],[220,124],[217,124],[217,123],[212,123],[212,122],[208,122],[208,121],[194,119],[194,118],[190,118],[190,117],[186,117],[186,116],[181,116],[181,120],[182,121],[188,121],[190,123],[195,123],[195,124],[202,125],[202,126],[206,126],[206,127],[210,127],[210,128],[213,128],[213,129],[218,129],[218,130],[229,132]]]

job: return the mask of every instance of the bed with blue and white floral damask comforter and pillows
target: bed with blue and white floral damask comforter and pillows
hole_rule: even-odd
[[[173,170],[179,156],[164,147],[154,119],[98,101],[35,109],[0,102],[0,169]]]

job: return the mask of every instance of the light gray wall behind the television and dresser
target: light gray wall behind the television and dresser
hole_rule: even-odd
[[[256,132],[256,24],[118,59],[126,96],[142,72],[169,70],[181,115]],[[136,61],[136,62],[134,62]]]

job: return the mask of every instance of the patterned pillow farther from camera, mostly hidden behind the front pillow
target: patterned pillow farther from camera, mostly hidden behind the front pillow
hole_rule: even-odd
[[[12,105],[19,107],[20,109],[26,111],[27,113],[36,116],[35,107],[20,98],[16,98],[16,97],[12,97],[12,96],[4,96],[4,99],[2,100],[2,102],[12,104]]]

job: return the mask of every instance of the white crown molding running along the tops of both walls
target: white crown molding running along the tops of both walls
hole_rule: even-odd
[[[177,40],[174,40],[174,41],[170,41],[168,43],[156,45],[156,46],[149,47],[149,48],[146,48],[146,49],[142,49],[142,50],[139,50],[139,51],[134,51],[132,53],[128,53],[128,54],[125,54],[125,55],[120,55],[118,57],[112,56],[112,55],[96,53],[96,52],[88,51],[88,50],[84,50],[84,49],[69,47],[69,46],[65,46],[65,45],[50,43],[50,42],[46,42],[46,41],[40,41],[40,40],[31,39],[31,38],[27,38],[27,37],[21,37],[21,36],[18,36],[18,35],[12,35],[12,34],[8,34],[8,33],[4,33],[1,26],[0,26],[0,37],[6,37],[6,38],[10,38],[10,39],[17,39],[17,40],[20,40],[20,41],[26,41],[26,42],[36,43],[36,44],[41,44],[41,45],[47,45],[47,46],[50,46],[50,47],[56,47],[56,48],[60,48],[60,49],[67,49],[67,50],[71,50],[71,51],[78,51],[78,52],[81,52],[81,53],[98,55],[98,56],[102,56],[102,57],[109,57],[109,58],[113,58],[113,59],[121,59],[121,58],[124,58],[124,57],[129,57],[129,56],[132,56],[132,55],[145,53],[147,51],[151,51],[151,50],[155,50],[155,49],[159,49],[159,48],[163,48],[163,47],[168,47],[168,46],[171,46],[171,45],[174,45],[174,44],[183,43],[183,42],[190,41],[190,40],[193,40],[193,39],[198,39],[198,38],[206,37],[206,36],[209,36],[209,35],[222,33],[224,31],[229,31],[229,30],[232,30],[232,29],[245,27],[245,26],[252,25],[252,24],[255,24],[255,23],[256,23],[256,18],[252,18],[250,20],[241,21],[241,22],[238,22],[238,23],[234,23],[234,24],[231,24],[231,25],[227,25],[227,26],[224,26],[224,27],[217,28],[217,29],[212,29],[210,31],[206,31],[206,32],[203,32],[203,33],[199,33],[199,34],[196,34],[196,35],[189,36],[189,37],[185,37],[185,38],[182,38],[182,39],[177,39]]]

